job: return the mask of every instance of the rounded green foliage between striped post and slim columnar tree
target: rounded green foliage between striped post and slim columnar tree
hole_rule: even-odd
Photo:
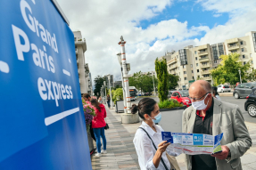
[[[129,77],[129,85],[135,86],[137,90],[145,93],[153,92],[153,81],[154,85],[158,85],[158,80],[156,77],[148,74],[143,74],[141,71],[133,74],[132,77]]]

